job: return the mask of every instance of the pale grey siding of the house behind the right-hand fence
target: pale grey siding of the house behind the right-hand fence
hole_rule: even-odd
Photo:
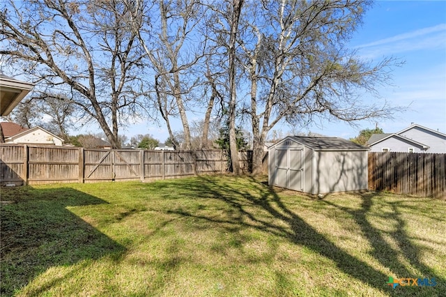
[[[422,151],[422,153],[446,153],[446,136],[439,135],[436,132],[421,127],[413,127],[399,135],[429,146],[429,148],[426,151]]]

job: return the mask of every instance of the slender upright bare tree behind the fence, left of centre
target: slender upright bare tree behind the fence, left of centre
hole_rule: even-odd
[[[196,66],[204,56],[206,38],[197,34],[197,26],[203,20],[204,6],[195,0],[126,3],[137,6],[132,15],[134,31],[154,71],[157,109],[171,139],[174,139],[174,132],[170,118],[179,116],[185,138],[183,148],[190,149],[190,123],[186,112],[187,103],[193,99],[194,89],[201,81]],[[145,25],[140,28],[139,24]]]

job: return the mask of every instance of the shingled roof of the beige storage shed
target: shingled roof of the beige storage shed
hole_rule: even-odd
[[[346,139],[339,137],[308,137],[308,136],[288,136],[282,139],[279,143],[286,139],[292,139],[304,146],[314,149],[315,151],[368,151],[369,148],[360,144],[355,144]],[[276,144],[275,144],[276,145]],[[273,145],[273,146],[275,146]],[[272,147],[272,146],[271,146]]]

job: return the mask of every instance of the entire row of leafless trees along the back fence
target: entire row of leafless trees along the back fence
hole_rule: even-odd
[[[118,128],[143,107],[165,122],[174,145],[171,119],[178,117],[185,149],[194,146],[197,114],[200,146],[211,145],[210,121],[219,114],[229,119],[230,155],[238,164],[236,127],[248,123],[259,173],[277,123],[354,123],[395,111],[361,95],[377,95],[397,61],[365,61],[348,48],[370,6],[368,0],[29,0],[17,7],[9,0],[0,13],[0,54],[48,93],[65,92],[114,147]]]

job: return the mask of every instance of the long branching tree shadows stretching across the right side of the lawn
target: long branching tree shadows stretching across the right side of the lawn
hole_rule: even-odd
[[[196,192],[197,195],[224,201],[224,203],[230,206],[231,211],[236,213],[236,215],[231,215],[227,219],[197,215],[185,210],[173,210],[169,211],[169,213],[176,213],[178,215],[199,220],[208,220],[216,222],[217,224],[220,223],[223,226],[244,226],[255,228],[261,231],[267,231],[270,234],[275,234],[276,236],[282,236],[296,245],[305,246],[313,252],[317,252],[321,256],[332,260],[340,271],[350,275],[356,280],[360,280],[364,284],[368,284],[370,287],[382,291],[383,294],[397,294],[399,296],[413,296],[414,294],[417,296],[440,296],[440,286],[429,288],[417,287],[411,288],[410,290],[392,289],[386,284],[389,280],[389,276],[392,275],[386,275],[367,262],[362,261],[362,259],[358,259],[346,252],[346,250],[339,248],[339,246],[332,243],[330,239],[326,238],[323,234],[320,234],[314,227],[300,218],[298,213],[291,211],[289,206],[284,204],[281,197],[277,195],[277,192],[274,189],[268,188],[254,177],[250,178],[252,181],[249,184],[249,187],[247,187],[250,190],[244,190],[243,185],[238,185],[236,181],[233,182],[233,184],[226,181],[220,183],[215,178],[208,176],[199,176],[199,179],[202,181],[199,185],[198,183],[185,185],[178,184],[179,187],[184,187],[183,190],[191,190]],[[252,185],[254,185],[257,191],[254,195],[252,193]],[[349,208],[341,208],[339,206],[335,207],[353,216],[353,219],[362,230],[362,236],[364,236],[371,244],[371,247],[374,248],[374,252],[371,252],[371,255],[384,267],[389,268],[390,271],[393,271],[397,275],[401,275],[401,277],[436,277],[437,283],[442,284],[441,287],[444,287],[444,284],[446,283],[445,278],[440,275],[435,275],[431,268],[425,266],[420,261],[421,250],[410,242],[408,234],[404,231],[406,222],[401,218],[396,205],[392,206],[394,215],[391,219],[397,221],[398,227],[392,236],[397,241],[401,252],[409,258],[410,265],[424,275],[413,275],[413,271],[410,271],[406,268],[405,264],[394,257],[394,254],[396,254],[397,251],[384,240],[380,235],[380,230],[374,228],[366,218],[367,213],[370,211],[373,198],[374,194],[362,195],[362,207],[356,211],[351,211]],[[318,201],[314,201],[314,203],[317,202]],[[330,202],[326,203],[330,204]],[[261,215],[256,215],[255,211],[249,211],[249,208],[252,207],[266,211],[274,218],[286,223],[286,227],[283,227],[283,224],[276,224],[265,220]],[[228,227],[228,229],[231,229],[231,227]],[[418,291],[416,291],[416,289],[418,289]]]

